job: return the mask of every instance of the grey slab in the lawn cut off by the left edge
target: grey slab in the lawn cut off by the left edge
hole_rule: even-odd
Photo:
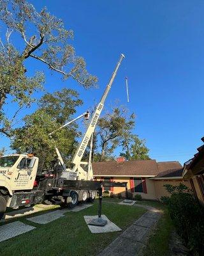
[[[19,236],[33,230],[35,227],[26,225],[21,221],[15,221],[3,226],[0,226],[0,242],[6,241],[12,237]]]

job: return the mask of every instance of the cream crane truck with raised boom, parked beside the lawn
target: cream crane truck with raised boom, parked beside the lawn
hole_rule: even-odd
[[[105,99],[123,58],[124,55],[121,54],[84,137],[78,145],[71,161],[73,168],[66,168],[57,147],[57,163],[52,164],[48,170],[43,169],[40,159],[33,154],[10,154],[0,157],[0,220],[6,207],[18,208],[41,202],[49,204],[55,199],[61,200],[69,207],[75,207],[78,202],[94,201],[101,183],[93,180],[91,154],[88,162],[82,161],[82,157],[89,141],[92,141],[92,134]]]

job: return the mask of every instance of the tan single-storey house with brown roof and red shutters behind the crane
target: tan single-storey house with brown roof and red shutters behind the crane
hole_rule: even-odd
[[[142,195],[143,199],[157,200],[168,195],[164,184],[178,185],[180,182],[191,187],[182,178],[182,166],[177,161],[156,162],[156,160],[131,160],[117,157],[116,161],[92,163],[95,180],[128,182],[128,191]],[[124,188],[109,188],[114,194],[125,193]]]

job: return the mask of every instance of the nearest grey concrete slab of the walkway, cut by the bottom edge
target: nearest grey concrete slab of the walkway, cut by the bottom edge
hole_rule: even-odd
[[[103,252],[99,253],[98,256],[135,256],[143,246],[144,244],[142,243],[119,236]]]

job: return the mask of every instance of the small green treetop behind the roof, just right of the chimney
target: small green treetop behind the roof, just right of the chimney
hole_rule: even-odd
[[[149,148],[145,145],[145,140],[141,140],[137,135],[131,134],[128,141],[123,141],[123,149],[125,153],[120,156],[126,157],[126,160],[145,160],[149,158]]]

